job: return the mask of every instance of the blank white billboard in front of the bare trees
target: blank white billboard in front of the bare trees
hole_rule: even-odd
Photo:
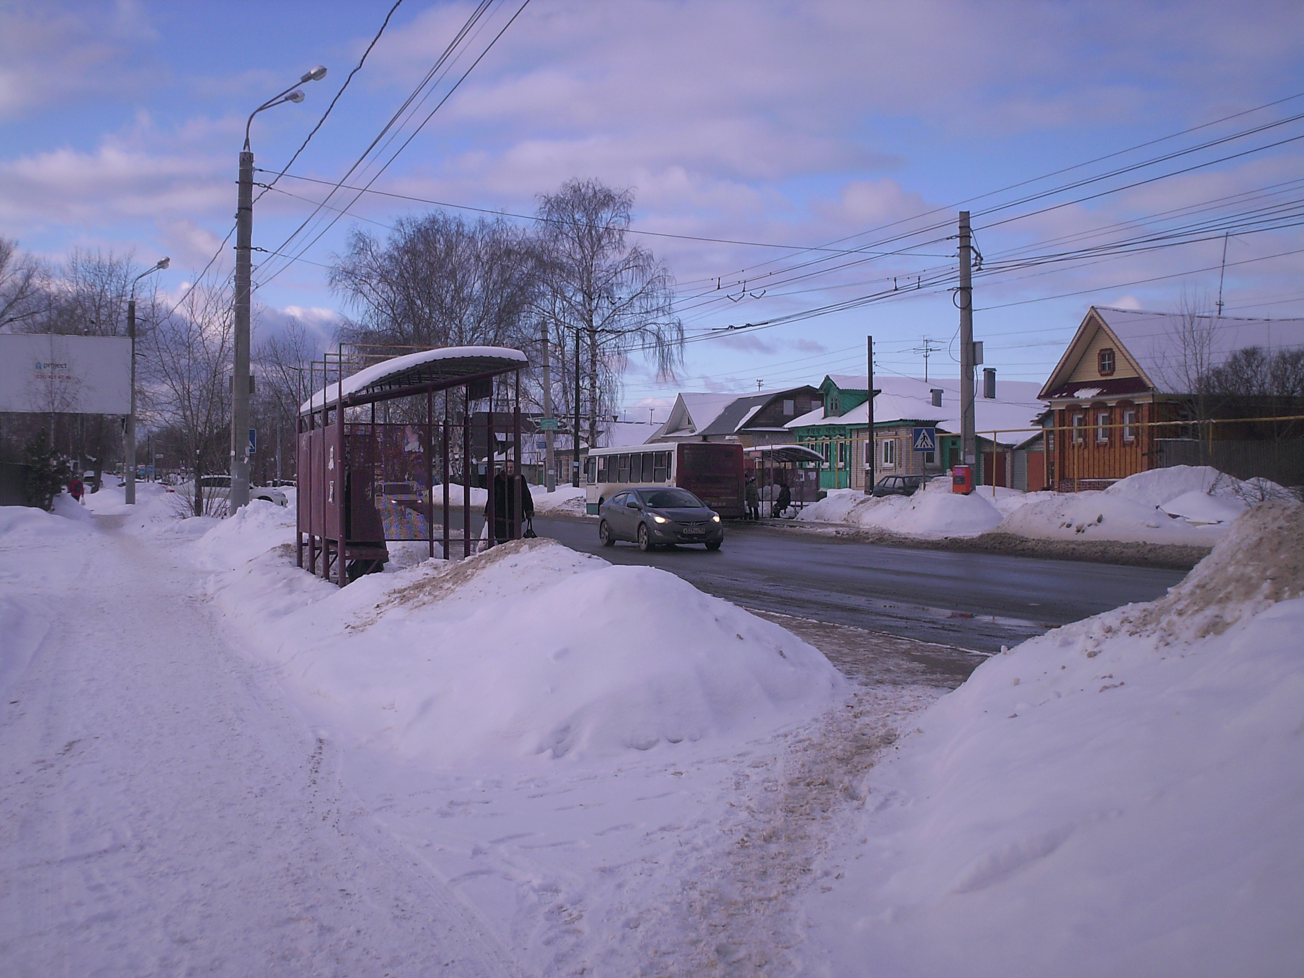
[[[125,336],[0,334],[0,411],[130,413],[132,340]]]

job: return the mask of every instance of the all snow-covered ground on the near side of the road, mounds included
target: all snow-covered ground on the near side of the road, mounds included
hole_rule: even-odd
[[[293,566],[292,509],[120,498],[0,509],[5,975],[1275,978],[1304,951],[1297,505],[948,694],[918,653],[857,670],[900,639],[546,539],[395,544],[340,589]]]

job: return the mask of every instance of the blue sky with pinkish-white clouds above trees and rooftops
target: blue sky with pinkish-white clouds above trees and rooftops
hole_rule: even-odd
[[[254,124],[258,166],[279,170],[391,3],[0,4],[0,233],[52,261],[73,246],[134,250],[142,263],[170,254],[160,286],[177,292],[231,226],[245,116],[304,70],[329,67],[326,80],[305,86],[303,104],[270,110]],[[458,74],[518,7],[511,0],[490,10]],[[406,0],[291,172],[338,180],[469,10]],[[888,236],[875,228],[892,222],[905,222],[892,231],[953,222],[961,201],[1299,95],[1301,42],[1304,7],[1288,3],[532,0],[374,186],[529,214],[537,193],[591,176],[635,188],[643,231],[866,246]],[[436,96],[447,89],[445,81]],[[1281,102],[1024,189],[1301,112],[1304,98]],[[1181,166],[1296,136],[1304,121],[1183,156]],[[1120,226],[1112,233],[1134,236],[1162,226],[1153,216],[1159,211],[1251,192],[1258,196],[1201,216],[1266,205],[1288,214],[1304,197],[1288,184],[1304,176],[1301,146],[1304,140],[1286,142],[1007,224],[992,222],[1037,207],[975,216],[978,243],[990,263],[1015,248],[1046,254],[1064,246],[1055,239],[1111,224]],[[1178,168],[1155,166],[1129,179]],[[1121,183],[1128,180],[1093,186]],[[322,190],[291,179],[279,186],[312,200]],[[1039,206],[1073,196],[1082,192]],[[1011,197],[970,206],[977,213]],[[303,261],[280,262],[286,267],[261,286],[262,329],[293,314],[327,336],[340,306],[321,265],[351,227],[383,235],[398,215],[424,209],[365,196]],[[935,209],[947,210],[911,223]],[[310,210],[304,200],[269,193],[258,203],[254,244],[275,248]],[[863,372],[870,333],[885,372],[922,373],[911,352],[922,336],[944,347],[931,369],[953,372],[945,346],[957,312],[944,274],[936,288],[896,301],[748,335],[711,333],[862,296],[893,275],[904,282],[944,273],[955,261],[947,236],[915,233],[888,249],[910,245],[905,254],[842,271],[825,261],[801,280],[765,274],[831,253],[642,239],[681,283],[690,336],[711,338],[687,347],[673,382],[632,363],[627,404],[665,402],[675,390],[747,391],[758,379],[778,387]],[[1222,248],[1210,239],[979,279],[975,336],[986,340],[987,365],[1001,377],[1045,379],[1091,303],[1171,309],[1185,297],[1209,305]],[[1304,316],[1304,256],[1284,254],[1300,248],[1291,227],[1232,236],[1226,313]],[[228,253],[222,261],[230,267]],[[715,291],[717,276],[732,287]]]

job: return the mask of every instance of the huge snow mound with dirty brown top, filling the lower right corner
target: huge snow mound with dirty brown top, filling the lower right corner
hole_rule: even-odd
[[[1284,975],[1304,960],[1304,515],[917,717],[808,896],[812,973]]]

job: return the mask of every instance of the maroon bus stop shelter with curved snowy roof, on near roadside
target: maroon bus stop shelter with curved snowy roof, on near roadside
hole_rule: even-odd
[[[306,567],[340,587],[389,559],[389,541],[426,541],[429,554],[451,558],[455,540],[462,556],[472,545],[471,486],[476,469],[472,450],[472,406],[480,412],[486,446],[485,489],[489,514],[496,512],[496,456],[520,472],[520,370],[528,365],[519,349],[443,347],[394,356],[346,374],[343,356],[335,369],[322,364],[325,386],[299,408],[299,519],[296,556]],[[334,379],[329,379],[334,373]],[[377,406],[394,404],[377,420]],[[398,420],[389,420],[390,416]],[[460,415],[455,417],[455,415]],[[452,505],[450,482],[460,475],[460,505]],[[509,481],[516,498],[507,539],[522,535],[520,479]],[[442,501],[436,506],[436,497]],[[451,523],[460,509],[456,536]],[[485,520],[488,542],[496,520]]]

